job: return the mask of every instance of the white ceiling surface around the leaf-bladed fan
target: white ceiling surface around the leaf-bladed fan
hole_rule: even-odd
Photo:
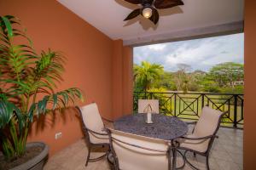
[[[184,5],[161,9],[154,26],[142,16],[123,21],[135,4],[123,0],[57,0],[112,39],[130,40],[175,31],[218,26],[243,20],[244,0],[183,0]]]

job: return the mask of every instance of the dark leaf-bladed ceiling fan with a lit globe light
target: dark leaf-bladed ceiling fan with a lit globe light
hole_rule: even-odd
[[[131,20],[137,17],[139,14],[143,17],[151,20],[154,25],[158,23],[159,13],[157,9],[172,8],[178,5],[183,5],[182,0],[125,0],[128,3],[140,4],[142,8],[137,8],[129,14],[125,20]]]

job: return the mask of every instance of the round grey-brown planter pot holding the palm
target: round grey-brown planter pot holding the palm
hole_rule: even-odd
[[[48,156],[49,147],[47,144],[41,143],[41,142],[32,142],[26,144],[26,148],[29,147],[42,147],[43,150],[41,153],[38,154],[38,156],[33,157],[31,160],[26,161],[25,163],[21,164],[20,166],[13,167],[10,170],[43,170],[44,163]]]

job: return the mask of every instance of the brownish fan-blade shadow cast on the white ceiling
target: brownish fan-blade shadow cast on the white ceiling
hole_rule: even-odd
[[[137,4],[132,4],[132,3],[128,3],[125,2],[124,0],[115,0],[116,3],[119,3],[119,5],[125,7],[125,8],[131,8],[131,11],[136,9],[136,8],[141,8],[140,5]],[[182,14],[183,10],[180,7],[174,7],[174,8],[165,8],[165,9],[158,9],[158,12],[161,16],[168,16],[168,15],[172,15],[172,14]],[[127,14],[128,15],[128,14]],[[125,18],[124,18],[125,20]],[[125,26],[131,26],[133,24],[135,24],[136,22],[139,22],[139,24],[141,26],[143,26],[143,30],[147,31],[149,28],[152,28],[153,30],[156,30],[157,27],[159,26],[159,23],[157,23],[157,25],[154,25],[153,22],[151,22],[150,20],[144,18],[142,15],[137,16],[136,18],[132,19],[132,20],[128,20],[128,21],[124,21],[125,22]]]

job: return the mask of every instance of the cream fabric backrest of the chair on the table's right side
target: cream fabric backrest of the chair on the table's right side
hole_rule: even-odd
[[[195,124],[194,133],[197,137],[205,137],[218,132],[223,112],[205,106]]]

